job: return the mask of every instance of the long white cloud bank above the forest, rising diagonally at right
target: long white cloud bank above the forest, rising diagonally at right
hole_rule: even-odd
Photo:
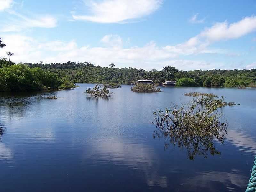
[[[196,55],[200,53],[221,53],[226,56],[239,56],[239,53],[228,52],[221,49],[209,49],[208,46],[218,41],[235,39],[251,33],[256,29],[256,16],[246,17],[238,22],[228,24],[227,21],[216,23],[210,28],[205,28],[198,35],[188,41],[177,45],[158,47],[155,42],[137,47],[124,48],[124,41],[118,35],[106,35],[100,42],[104,46],[91,47],[84,45],[78,47],[74,40],[43,41],[20,35],[1,36],[7,44],[0,50],[0,56],[6,56],[7,51],[14,52],[12,60],[15,62],[39,62],[46,63],[67,61],[88,61],[100,66],[108,66],[115,63],[116,67],[133,67],[161,69],[163,66],[172,65],[180,70],[190,69],[234,69],[254,68],[254,63],[224,63],[213,62],[214,59],[191,60],[180,59],[179,56]]]

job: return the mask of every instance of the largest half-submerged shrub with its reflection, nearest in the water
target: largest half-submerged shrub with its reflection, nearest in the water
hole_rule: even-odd
[[[227,134],[227,123],[219,120],[222,114],[217,110],[221,107],[218,99],[211,98],[203,106],[200,101],[196,96],[180,108],[173,105],[170,109],[154,113],[157,136],[162,134],[166,141],[185,148],[191,160],[195,159],[196,154],[207,158],[208,151],[211,155],[220,154],[213,141],[223,143]],[[167,146],[168,143],[165,144]]]

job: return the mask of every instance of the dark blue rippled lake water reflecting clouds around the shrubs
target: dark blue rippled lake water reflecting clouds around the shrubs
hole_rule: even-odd
[[[245,191],[256,155],[256,89],[173,88],[111,98],[68,91],[1,94],[0,191]],[[153,138],[153,112],[211,92],[224,107],[228,136],[220,155],[189,160],[187,150]],[[59,99],[44,99],[56,95]]]

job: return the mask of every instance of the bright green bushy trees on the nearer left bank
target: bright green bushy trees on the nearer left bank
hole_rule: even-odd
[[[12,63],[0,58],[0,91],[20,92],[53,89],[68,89],[73,83],[56,73],[42,68]]]

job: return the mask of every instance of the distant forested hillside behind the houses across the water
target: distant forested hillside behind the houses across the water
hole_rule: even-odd
[[[74,83],[131,84],[139,79],[150,78],[158,84],[164,80],[176,80],[178,86],[256,87],[256,69],[179,71],[168,66],[161,71],[156,69],[146,71],[135,68],[114,68],[113,64],[110,67],[100,67],[88,62],[25,64],[30,68],[44,68],[60,77],[67,77],[69,81]]]

